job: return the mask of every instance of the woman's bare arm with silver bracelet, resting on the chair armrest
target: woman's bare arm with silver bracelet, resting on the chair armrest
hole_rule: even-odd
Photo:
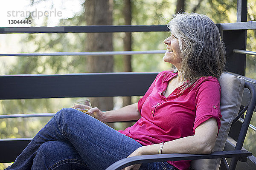
[[[218,125],[214,118],[210,118],[195,129],[194,136],[187,136],[164,143],[162,153],[191,153],[209,154],[215,145]],[[158,154],[160,144],[139,147],[130,156]],[[137,170],[140,165],[126,167],[125,170]]]

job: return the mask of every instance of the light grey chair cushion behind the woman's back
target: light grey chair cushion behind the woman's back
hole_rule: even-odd
[[[242,95],[244,92],[244,79],[231,74],[223,73],[218,78],[221,85],[221,127],[213,151],[221,151],[227,140],[227,135],[233,119],[237,116]],[[211,94],[209,94],[211,95]],[[195,170],[218,170],[221,159],[202,159],[191,161]]]

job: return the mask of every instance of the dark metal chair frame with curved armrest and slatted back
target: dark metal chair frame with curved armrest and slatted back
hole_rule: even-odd
[[[180,160],[195,160],[195,159],[218,159],[221,158],[227,170],[235,170],[237,161],[246,161],[248,156],[252,154],[247,150],[241,150],[244,144],[244,139],[250,124],[250,120],[253,116],[253,111],[256,105],[256,92],[255,88],[249,82],[244,82],[244,88],[250,91],[250,102],[245,106],[239,113],[238,116],[233,120],[232,125],[242,116],[245,111],[244,122],[239,132],[239,138],[236,142],[235,150],[230,151],[216,151],[210,154],[161,154],[161,155],[144,155],[144,156],[133,156],[125,159],[116,161],[114,164],[109,166],[106,170],[121,170],[132,164],[151,163],[159,161],[180,161]],[[226,158],[232,158],[230,165],[227,163]]]

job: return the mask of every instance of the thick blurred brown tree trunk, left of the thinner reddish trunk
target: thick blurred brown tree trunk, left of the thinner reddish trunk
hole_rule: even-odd
[[[86,0],[84,10],[87,26],[113,23],[113,0]],[[87,51],[113,51],[112,33],[88,33],[86,46]],[[113,56],[89,56],[86,66],[87,72],[113,72]],[[102,111],[113,109],[112,97],[93,98],[91,103]]]

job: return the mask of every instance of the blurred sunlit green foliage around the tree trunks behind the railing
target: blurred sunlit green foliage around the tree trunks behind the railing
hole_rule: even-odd
[[[36,1],[38,3],[38,0]],[[176,0],[131,0],[132,25],[163,25],[175,13]],[[83,6],[83,4],[81,4]],[[198,1],[186,0],[186,12],[191,12],[197,7]],[[248,20],[255,20],[256,2],[248,0]],[[113,25],[124,25],[122,0],[113,0]],[[84,9],[86,10],[86,9]],[[236,0],[203,0],[196,8],[197,13],[206,14],[215,23],[236,22]],[[84,12],[76,14],[72,18],[59,21],[59,26],[84,26]],[[32,18],[29,18],[32,19]],[[33,23],[33,22],[32,22]],[[44,26],[47,26],[45,18]],[[169,32],[134,32],[132,33],[133,50],[164,50],[163,40],[169,37]],[[114,51],[123,50],[124,33],[113,34]],[[20,45],[20,52],[66,52],[85,51],[87,34],[27,34]],[[247,50],[256,51],[256,31],[247,31]],[[133,71],[162,71],[172,67],[162,61],[163,54],[133,55]],[[67,74],[84,73],[86,69],[85,56],[42,56],[42,57],[17,57],[16,61],[9,65],[1,65],[6,74]],[[114,71],[123,71],[122,56],[114,56]],[[247,57],[246,76],[256,79],[256,60]],[[133,97],[133,102],[139,98]],[[14,113],[52,113],[64,107],[70,107],[77,98],[64,99],[20,99],[0,101],[0,114]],[[49,120],[44,118],[14,118],[0,120],[0,138],[33,137]],[[256,125],[256,117],[252,122]],[[118,128],[122,129],[121,126]],[[255,132],[249,130],[244,147],[256,154]],[[0,169],[7,165],[0,164]]]

